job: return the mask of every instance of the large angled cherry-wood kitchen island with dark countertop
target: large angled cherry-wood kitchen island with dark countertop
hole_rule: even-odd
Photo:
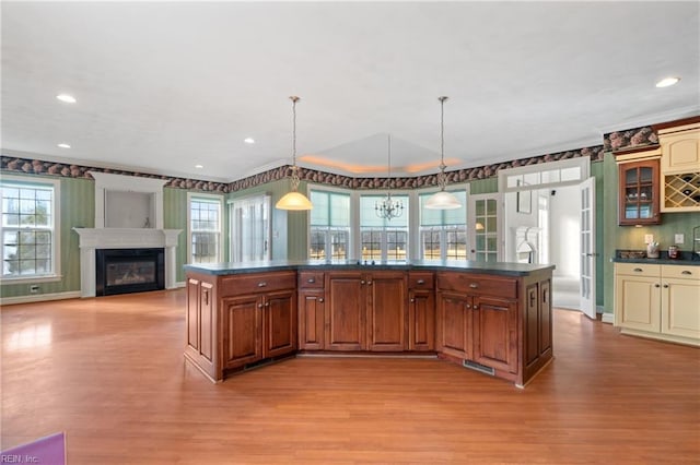
[[[296,354],[448,359],[524,386],[552,359],[553,265],[185,265],[185,358],[212,381]]]

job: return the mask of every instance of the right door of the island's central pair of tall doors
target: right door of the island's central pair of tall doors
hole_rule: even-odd
[[[402,272],[372,273],[365,279],[370,350],[401,351],[407,348],[406,278]]]

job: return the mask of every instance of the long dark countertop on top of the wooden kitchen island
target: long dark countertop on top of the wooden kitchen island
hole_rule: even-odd
[[[528,263],[472,262],[463,260],[416,260],[396,262],[362,262],[357,260],[273,260],[256,263],[201,263],[185,265],[186,272],[212,275],[244,274],[265,271],[296,270],[415,270],[415,271],[459,271],[466,273],[489,273],[501,276],[527,276],[538,271],[553,270],[555,265]]]

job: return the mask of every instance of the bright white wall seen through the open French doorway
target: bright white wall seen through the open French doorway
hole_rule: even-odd
[[[549,261],[557,265],[556,275],[581,274],[581,201],[579,187],[552,189],[549,196]],[[551,191],[550,191],[551,192]]]

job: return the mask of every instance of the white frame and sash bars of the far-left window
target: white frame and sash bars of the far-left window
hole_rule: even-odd
[[[60,179],[49,179],[44,177],[23,177],[23,176],[12,176],[12,175],[2,175],[2,179],[0,179],[0,188],[4,187],[18,187],[18,188],[30,188],[30,189],[51,189],[51,218],[52,226],[50,227],[51,231],[51,272],[47,274],[32,274],[32,275],[4,275],[4,231],[8,227],[2,225],[0,222],[0,240],[2,240],[2,245],[0,245],[0,253],[3,257],[3,273],[0,274],[0,283],[1,284],[20,284],[20,283],[50,283],[62,279],[61,274],[61,181]],[[2,195],[0,195],[1,198]],[[0,208],[2,208],[0,206]],[[1,212],[4,214],[4,211]],[[21,227],[9,228],[12,230],[20,231]],[[24,228],[36,230],[36,228]],[[42,230],[46,230],[43,228]]]

